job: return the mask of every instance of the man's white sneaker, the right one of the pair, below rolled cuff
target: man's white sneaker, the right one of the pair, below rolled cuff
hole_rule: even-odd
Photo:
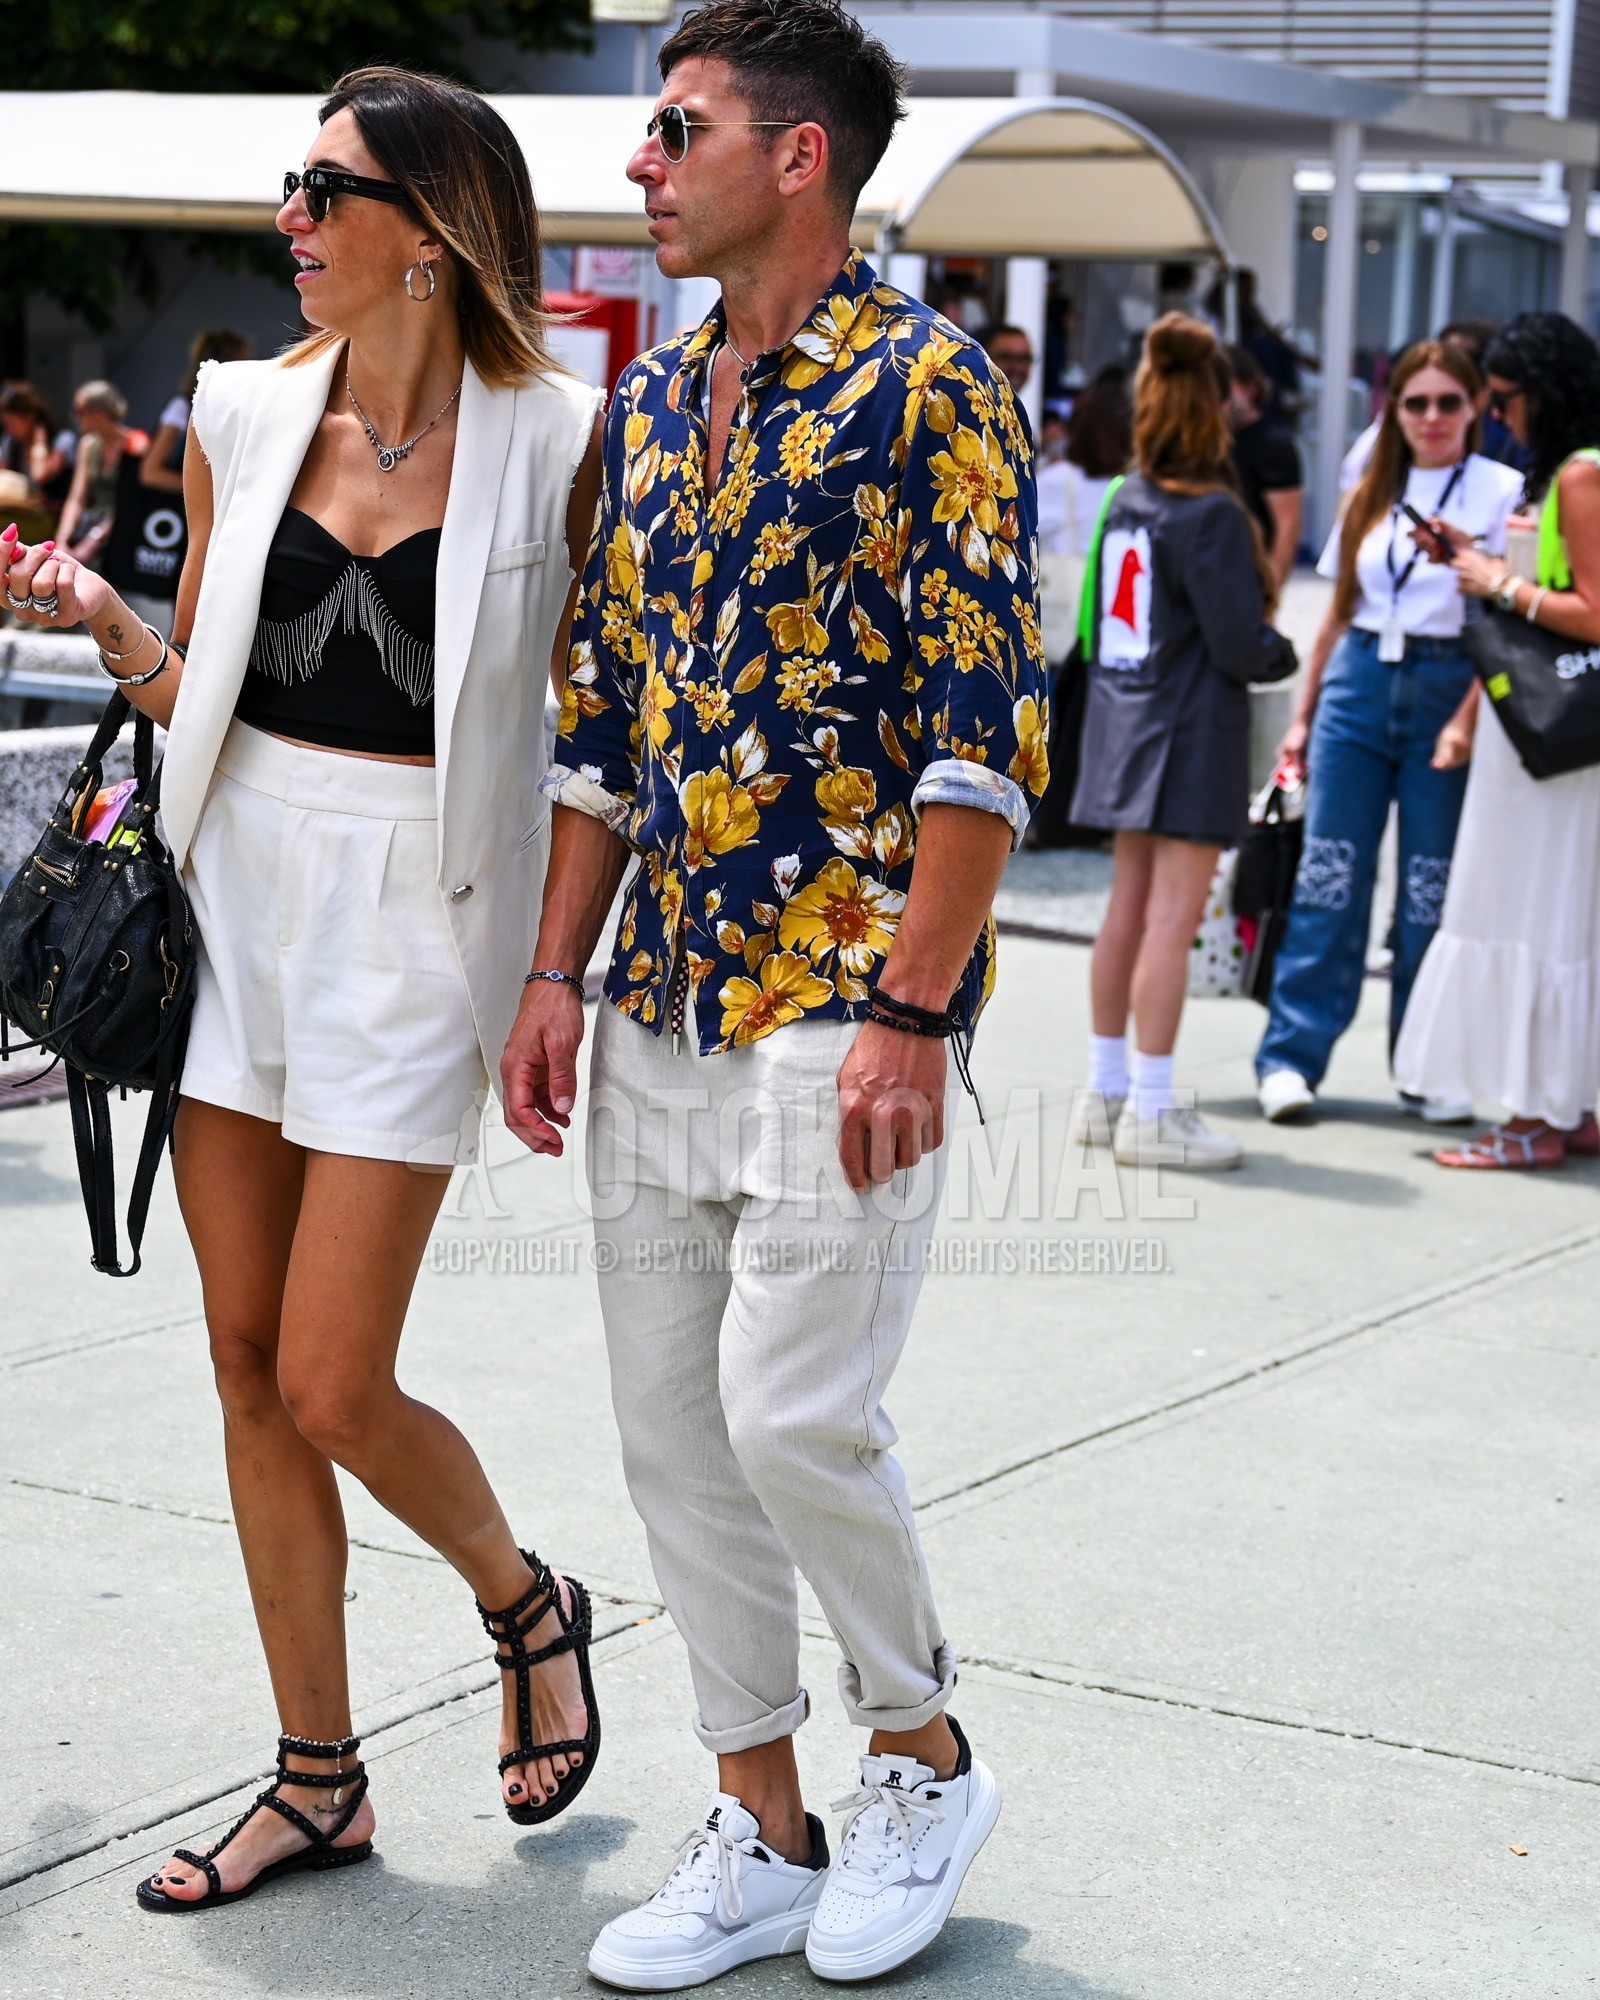
[[[956,1720],[954,1778],[898,1756],[864,1756],[838,1860],[812,1916],[806,1964],[824,1980],[870,1980],[904,1966],[944,1930],[966,1870],[1000,1818],[1000,1786]]]

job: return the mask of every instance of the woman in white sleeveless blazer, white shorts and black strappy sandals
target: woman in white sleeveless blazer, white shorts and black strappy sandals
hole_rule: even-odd
[[[478,1596],[510,1816],[564,1810],[598,1748],[582,1584],[518,1550],[394,1360],[528,974],[600,398],[550,360],[528,172],[482,98],[356,72],[284,196],[310,330],[200,376],[188,648],[52,544],[0,552],[10,602],[82,620],[170,728],[164,832],[202,944],[174,1162],[286,1734],[244,1820],[140,1884],[166,1912],[372,1852],[336,1464]]]

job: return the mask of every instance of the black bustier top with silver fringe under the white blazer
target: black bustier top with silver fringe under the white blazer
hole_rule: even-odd
[[[352,556],[284,508],[234,714],[258,730],[380,756],[434,754],[438,528]]]

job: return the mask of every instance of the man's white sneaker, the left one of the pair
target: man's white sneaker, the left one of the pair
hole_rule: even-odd
[[[828,1880],[822,1820],[808,1812],[806,1824],[808,1860],[786,1862],[762,1840],[754,1812],[716,1792],[650,1902],[614,1916],[594,1940],[588,1970],[624,1992],[678,1992],[752,1958],[802,1950]]]

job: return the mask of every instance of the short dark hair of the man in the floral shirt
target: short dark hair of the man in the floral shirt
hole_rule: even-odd
[[[846,214],[906,114],[906,70],[838,0],[710,0],[662,42],[662,78],[700,56],[726,62],[752,118],[828,134],[828,180]],[[758,132],[772,146],[778,134]]]

